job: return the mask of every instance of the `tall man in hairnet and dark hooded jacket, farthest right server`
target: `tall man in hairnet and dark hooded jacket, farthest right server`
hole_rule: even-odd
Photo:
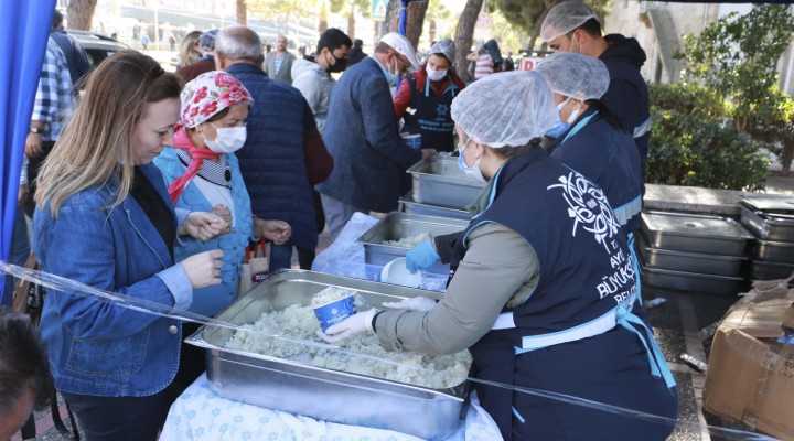
[[[640,43],[621,34],[602,35],[596,11],[579,1],[554,7],[543,22],[540,37],[551,51],[577,52],[604,62],[610,85],[601,100],[634,138],[644,171],[651,139],[651,101],[640,74],[646,60]]]

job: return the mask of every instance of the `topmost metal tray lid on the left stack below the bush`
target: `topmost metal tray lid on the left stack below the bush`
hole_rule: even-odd
[[[645,226],[652,232],[674,233],[687,236],[710,236],[752,239],[738,222],[720,216],[684,213],[646,212],[642,214]]]

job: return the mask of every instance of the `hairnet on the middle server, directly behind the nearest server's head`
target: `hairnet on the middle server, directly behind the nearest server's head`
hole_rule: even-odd
[[[584,101],[599,99],[609,88],[609,71],[599,58],[573,52],[547,56],[535,71],[546,78],[551,92]]]

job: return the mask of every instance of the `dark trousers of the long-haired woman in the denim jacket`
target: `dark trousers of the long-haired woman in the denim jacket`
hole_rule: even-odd
[[[198,324],[183,323],[182,335]],[[148,397],[96,397],[62,391],[77,416],[86,441],[155,441],[171,405],[205,370],[204,349],[182,343],[176,377],[165,389]]]

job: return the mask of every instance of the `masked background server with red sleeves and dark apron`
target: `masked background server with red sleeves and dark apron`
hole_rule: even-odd
[[[417,73],[406,75],[394,99],[397,119],[405,119],[403,132],[421,133],[422,149],[454,150],[454,121],[450,106],[464,87],[452,71],[454,60],[452,40],[436,42],[430,47],[427,63]],[[415,111],[406,111],[408,108]]]

